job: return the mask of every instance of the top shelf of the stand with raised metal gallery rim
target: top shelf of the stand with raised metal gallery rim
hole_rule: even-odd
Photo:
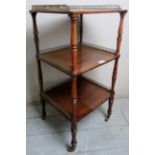
[[[69,6],[69,5],[32,5],[32,12],[42,13],[61,13],[61,14],[90,14],[90,13],[115,13],[126,12],[118,5],[85,5],[85,6]]]

